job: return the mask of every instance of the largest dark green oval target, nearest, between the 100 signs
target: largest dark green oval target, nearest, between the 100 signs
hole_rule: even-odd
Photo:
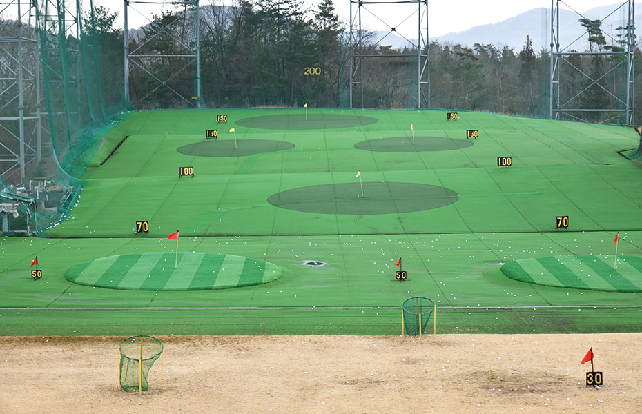
[[[429,184],[359,181],[293,188],[268,197],[273,206],[319,214],[409,213],[447,206],[458,200],[449,188]]]

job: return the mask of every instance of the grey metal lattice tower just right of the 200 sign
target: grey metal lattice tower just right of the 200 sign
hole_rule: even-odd
[[[356,8],[353,9],[353,4]],[[377,5],[393,5],[398,9],[403,10],[403,6],[416,6],[411,8],[409,16],[403,19],[400,23],[404,23],[413,18],[416,14],[417,21],[417,39],[411,41],[407,37],[398,32],[398,26],[391,26],[387,23],[386,19],[390,17],[380,17],[373,12]],[[384,23],[389,32],[400,34],[409,44],[412,44],[416,51],[411,54],[407,53],[394,53],[382,55],[368,55],[364,53],[364,32],[362,26],[362,11],[367,11],[381,23]],[[353,98],[359,101],[358,105],[364,108],[364,65],[367,65],[372,59],[417,59],[417,72],[416,72],[416,90],[411,88],[403,88],[397,84],[397,79],[392,79],[389,74],[380,72],[380,75],[391,81],[396,88],[400,88],[405,94],[410,97],[411,102],[415,108],[430,108],[430,81],[429,81],[429,58],[428,58],[428,0],[350,0],[350,34],[349,34],[349,49],[350,49],[350,108],[353,108]],[[385,39],[383,37],[378,43]],[[376,46],[376,45],[375,45]]]

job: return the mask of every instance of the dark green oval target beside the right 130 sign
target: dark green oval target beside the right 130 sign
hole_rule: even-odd
[[[446,137],[390,137],[369,139],[354,144],[358,150],[376,152],[424,152],[424,151],[449,151],[472,146],[473,141],[466,139],[452,139]]]

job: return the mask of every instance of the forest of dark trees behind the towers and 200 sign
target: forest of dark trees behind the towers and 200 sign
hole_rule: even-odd
[[[188,55],[193,48],[193,10],[176,8],[153,16],[153,24],[130,30],[129,50],[147,57],[130,63],[130,104],[134,108],[188,108],[190,97],[202,99],[206,108],[290,107],[307,103],[311,107],[346,107],[349,102],[349,33],[340,21],[333,0],[317,0],[307,8],[302,0],[236,0],[223,6],[220,0],[202,0],[200,8],[201,91],[195,89],[195,66],[190,57],[170,59],[169,55]],[[117,12],[95,8],[93,17],[84,15],[86,39],[92,39],[83,53],[98,60],[98,75],[104,95],[115,101],[123,85],[123,30],[115,27]],[[170,23],[165,30],[159,28]],[[155,24],[157,23],[157,24]],[[589,31],[589,48],[621,50],[619,41],[607,44],[599,22],[581,21]],[[368,43],[364,55],[416,54],[417,50],[391,50]],[[93,50],[92,50],[93,49]],[[642,64],[639,48],[636,65]],[[608,71],[619,57],[573,56],[565,61],[562,101],[574,91],[585,93],[574,105],[602,108],[614,97],[590,80],[567,70],[575,67],[595,77]],[[416,58],[373,59],[364,63],[363,101],[366,108],[416,108],[400,91],[415,88]],[[377,66],[378,65],[378,66]],[[309,70],[312,68],[312,71]],[[605,69],[606,68],[606,69]],[[601,84],[622,100],[625,65],[608,72]],[[475,43],[429,43],[430,106],[548,117],[549,50],[534,50],[525,36],[523,48]],[[635,70],[637,83],[642,70]],[[414,86],[413,86],[414,83]],[[642,88],[641,88],[642,89]],[[186,97],[186,98],[185,98]],[[121,99],[122,97],[120,97]],[[355,106],[360,106],[360,99]],[[642,108],[642,94],[634,95],[636,108]],[[609,113],[585,114],[590,121],[605,121]],[[614,119],[621,124],[624,119]]]

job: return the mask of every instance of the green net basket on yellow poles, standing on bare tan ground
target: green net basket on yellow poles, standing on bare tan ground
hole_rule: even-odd
[[[162,353],[163,343],[155,337],[136,335],[124,339],[120,343],[121,388],[125,391],[147,391],[147,375]]]

